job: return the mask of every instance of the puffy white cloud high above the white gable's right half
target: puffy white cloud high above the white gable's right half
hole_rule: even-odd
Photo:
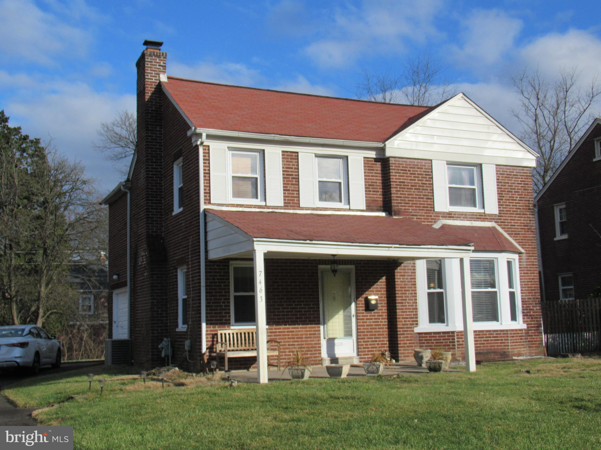
[[[450,56],[468,66],[490,66],[514,49],[523,22],[499,10],[475,10],[462,20],[462,46],[452,46]]]

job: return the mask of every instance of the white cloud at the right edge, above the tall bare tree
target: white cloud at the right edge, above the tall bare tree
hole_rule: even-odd
[[[582,30],[544,35],[523,47],[520,56],[523,62],[538,66],[550,76],[557,75],[560,68],[571,69],[577,65],[582,71],[583,83],[601,73],[601,40]]]

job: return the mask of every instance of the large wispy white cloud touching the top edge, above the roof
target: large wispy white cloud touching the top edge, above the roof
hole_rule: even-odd
[[[362,56],[398,54],[407,42],[425,43],[439,32],[433,19],[442,0],[364,1],[359,8],[335,8],[325,30],[304,53],[324,68],[343,68]]]

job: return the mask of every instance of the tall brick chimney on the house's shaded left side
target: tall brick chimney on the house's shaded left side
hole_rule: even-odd
[[[136,62],[138,142],[131,179],[132,285],[130,317],[133,361],[144,367],[162,362],[167,335],[166,253],[163,241],[163,92],[167,54],[160,41],[145,40]]]

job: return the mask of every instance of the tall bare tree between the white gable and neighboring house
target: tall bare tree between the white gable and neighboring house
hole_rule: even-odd
[[[555,78],[546,78],[538,68],[523,68],[511,77],[520,106],[512,111],[522,126],[520,139],[539,155],[532,170],[534,193],[540,192],[594,118],[592,109],[600,100],[597,76],[582,85],[577,67],[563,68]]]

